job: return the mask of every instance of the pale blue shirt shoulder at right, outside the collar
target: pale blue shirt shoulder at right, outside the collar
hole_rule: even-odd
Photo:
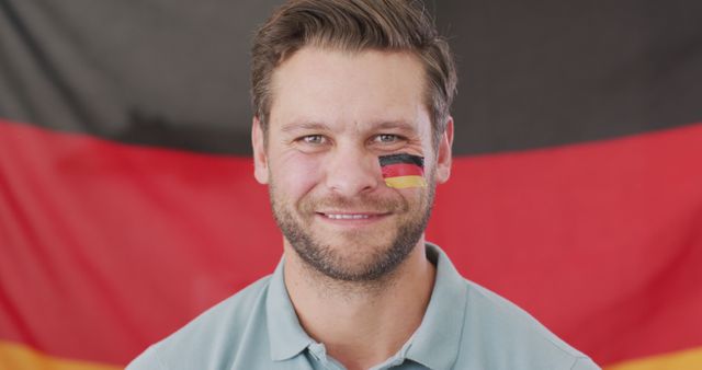
[[[488,369],[599,369],[586,355],[497,293],[465,280],[462,361]],[[468,367],[465,367],[468,368]]]

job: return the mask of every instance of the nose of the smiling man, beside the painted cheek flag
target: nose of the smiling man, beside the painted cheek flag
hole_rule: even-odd
[[[362,148],[338,147],[326,162],[327,187],[341,196],[370,193],[382,180],[377,157]]]

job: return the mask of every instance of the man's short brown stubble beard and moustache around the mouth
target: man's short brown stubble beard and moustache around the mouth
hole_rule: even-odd
[[[427,190],[419,205],[416,206],[418,209],[414,210],[410,210],[408,203],[399,197],[383,199],[370,196],[360,196],[353,200],[341,197],[303,198],[295,207],[292,207],[284,199],[276,198],[278,192],[273,182],[269,184],[269,195],[278,227],[307,267],[336,281],[373,285],[388,278],[407,259],[423,234],[433,206],[435,184],[431,181],[432,177],[429,177]],[[389,242],[375,245],[371,250],[364,247],[367,255],[361,256],[361,262],[351,265],[349,263],[351,258],[346,256],[343,252],[349,254],[355,251],[343,251],[343,248],[353,248],[358,245],[353,245],[353,242],[347,243],[351,245],[330,245],[313,235],[312,228],[306,227],[310,226],[314,210],[320,209],[319,206],[330,209],[360,206],[356,209],[389,210],[401,216],[394,223],[394,230],[387,230],[389,233],[394,233]],[[298,211],[293,212],[293,209]],[[308,218],[304,221],[295,215],[307,215]],[[344,238],[362,239],[363,235],[349,233]]]

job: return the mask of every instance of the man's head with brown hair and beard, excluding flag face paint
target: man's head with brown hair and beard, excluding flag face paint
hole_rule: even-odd
[[[449,177],[453,62],[406,1],[292,1],[253,47],[256,177],[286,246],[338,280],[377,280],[422,241]],[[423,157],[428,186],[385,185],[378,157]]]

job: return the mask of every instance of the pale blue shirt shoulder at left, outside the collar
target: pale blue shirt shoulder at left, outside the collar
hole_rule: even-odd
[[[139,355],[127,370],[215,369],[231,361],[244,336],[264,337],[265,296],[270,276],[208,309]],[[265,344],[268,345],[268,344]]]

